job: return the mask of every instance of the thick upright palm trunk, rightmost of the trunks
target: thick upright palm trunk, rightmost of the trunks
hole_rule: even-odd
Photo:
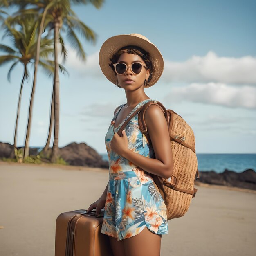
[[[58,158],[58,133],[59,133],[59,67],[58,67],[58,44],[60,41],[60,23],[54,23],[54,141],[52,146],[51,162],[56,162]]]

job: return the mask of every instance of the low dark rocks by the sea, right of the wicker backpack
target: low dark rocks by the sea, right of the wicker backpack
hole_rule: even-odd
[[[242,173],[236,173],[227,169],[225,169],[223,173],[216,173],[215,171],[199,171],[199,180],[197,181],[256,190],[256,172],[252,169],[247,169]]]

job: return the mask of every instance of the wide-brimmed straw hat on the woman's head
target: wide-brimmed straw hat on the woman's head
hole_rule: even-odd
[[[99,65],[103,74],[110,82],[116,85],[117,76],[115,76],[115,73],[108,64],[111,63],[110,58],[112,58],[113,54],[127,45],[136,45],[146,52],[149,52],[150,61],[152,63],[152,78],[149,82],[149,87],[154,85],[162,75],[164,70],[164,60],[157,47],[151,43],[146,36],[142,36],[141,34],[134,33],[112,36],[103,43],[99,51]],[[119,85],[117,86],[121,87]]]

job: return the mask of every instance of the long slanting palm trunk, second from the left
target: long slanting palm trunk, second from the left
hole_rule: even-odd
[[[27,134],[25,139],[25,146],[24,146],[24,154],[23,154],[23,162],[25,161],[25,157],[29,155],[29,136],[30,136],[30,129],[31,129],[31,121],[32,121],[32,110],[33,110],[33,100],[34,100],[34,94],[36,89],[36,76],[37,76],[37,69],[38,69],[38,63],[39,63],[39,57],[40,57],[40,45],[41,45],[41,36],[43,33],[43,26],[45,23],[45,16],[48,11],[48,8],[46,7],[42,19],[40,22],[40,29],[38,32],[38,38],[37,38],[37,44],[36,44],[36,59],[34,64],[34,77],[33,77],[33,85],[32,85],[32,91],[31,91],[31,97],[30,97],[30,103],[29,103],[29,117],[27,121]]]

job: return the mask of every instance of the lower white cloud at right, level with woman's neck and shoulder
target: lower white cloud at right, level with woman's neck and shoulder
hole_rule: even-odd
[[[166,101],[192,101],[227,107],[256,108],[256,88],[252,86],[229,86],[224,83],[191,83],[173,87]]]

